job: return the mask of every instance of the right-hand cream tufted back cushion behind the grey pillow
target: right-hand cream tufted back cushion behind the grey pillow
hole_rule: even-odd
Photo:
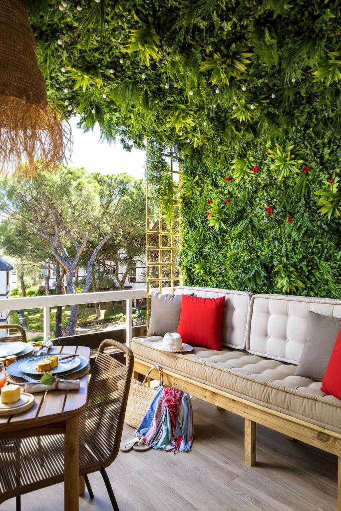
[[[307,337],[309,311],[341,318],[341,300],[277,294],[253,295],[247,333],[248,352],[298,364]]]

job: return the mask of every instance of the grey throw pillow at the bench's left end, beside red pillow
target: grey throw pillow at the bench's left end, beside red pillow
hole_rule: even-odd
[[[193,293],[190,296],[193,296]],[[177,331],[181,300],[181,294],[152,292],[152,311],[147,335],[164,335]]]

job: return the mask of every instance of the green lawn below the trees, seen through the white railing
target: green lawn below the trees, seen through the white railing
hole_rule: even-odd
[[[43,330],[43,309],[29,309],[23,311],[30,330]],[[125,315],[121,303],[116,302],[112,305],[111,301],[101,304],[101,318],[100,320],[110,321],[125,321]],[[70,316],[70,306],[62,307],[62,323],[65,326]],[[90,322],[96,319],[95,308],[85,308],[85,305],[79,306],[78,323]],[[16,311],[10,312],[10,322],[19,324],[19,318]],[[56,307],[51,308],[50,313],[50,330],[56,329]]]

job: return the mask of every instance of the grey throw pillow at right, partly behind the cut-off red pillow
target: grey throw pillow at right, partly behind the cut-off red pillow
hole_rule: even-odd
[[[341,318],[309,311],[307,339],[295,376],[322,381],[341,330]]]

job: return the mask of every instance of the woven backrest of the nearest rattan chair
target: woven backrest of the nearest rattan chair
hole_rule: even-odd
[[[109,346],[125,353],[126,365],[105,353]],[[134,355],[127,346],[113,339],[101,343],[90,377],[87,407],[80,417],[80,437],[104,467],[118,454],[133,366]]]

